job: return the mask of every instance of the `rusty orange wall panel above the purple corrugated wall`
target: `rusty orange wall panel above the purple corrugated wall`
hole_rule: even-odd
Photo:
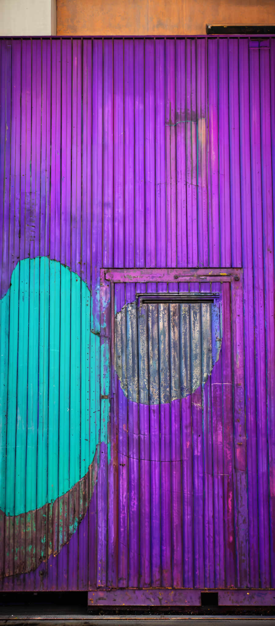
[[[57,0],[59,35],[192,35],[206,24],[274,24],[274,0]]]

